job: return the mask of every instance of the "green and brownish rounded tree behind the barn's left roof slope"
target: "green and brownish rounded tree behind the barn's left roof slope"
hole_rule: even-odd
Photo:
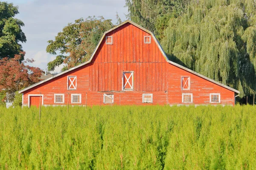
[[[59,54],[48,63],[48,70],[54,71],[57,66],[64,63],[64,71],[86,62],[103,33],[111,28],[111,20],[105,20],[103,17],[87,17],[85,20],[80,18],[75,23],[69,23],[58,33],[54,41],[48,41],[46,51],[53,55]]]

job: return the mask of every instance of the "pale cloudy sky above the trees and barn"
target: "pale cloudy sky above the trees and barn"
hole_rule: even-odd
[[[19,7],[20,14],[15,17],[22,20],[22,28],[26,35],[23,50],[25,59],[34,59],[30,64],[41,69],[47,68],[47,63],[55,59],[55,55],[48,54],[46,47],[48,40],[54,40],[58,32],[73,23],[76,19],[88,16],[103,16],[116,23],[116,12],[124,21],[127,8],[125,0],[7,0]],[[60,72],[62,67],[53,72]]]

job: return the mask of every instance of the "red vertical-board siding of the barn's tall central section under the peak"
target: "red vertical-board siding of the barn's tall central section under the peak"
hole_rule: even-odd
[[[127,23],[106,34],[90,68],[91,91],[122,91],[123,71],[134,71],[134,91],[166,91],[166,60],[150,34]],[[144,43],[144,36],[151,43]]]

